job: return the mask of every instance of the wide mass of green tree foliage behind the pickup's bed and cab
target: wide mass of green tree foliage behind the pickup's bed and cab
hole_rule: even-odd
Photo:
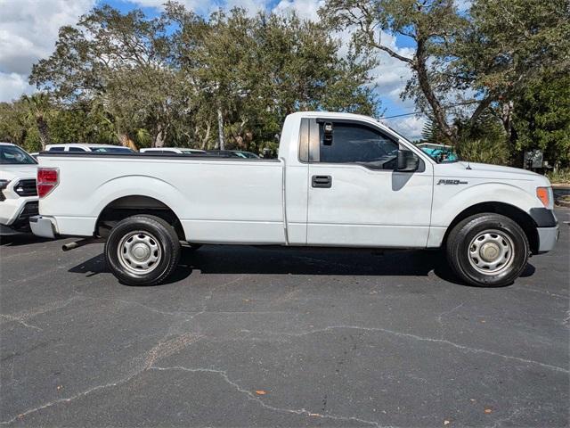
[[[47,120],[53,141],[213,148],[220,134],[229,148],[259,152],[292,111],[375,114],[374,66],[352,50],[341,55],[327,29],[295,15],[236,8],[205,20],[168,3],[147,19],[104,5],[60,29],[30,82],[65,112]]]

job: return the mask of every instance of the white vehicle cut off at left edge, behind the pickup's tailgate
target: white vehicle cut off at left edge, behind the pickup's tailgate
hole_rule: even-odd
[[[29,233],[36,216],[37,162],[20,147],[0,143],[0,235]]]

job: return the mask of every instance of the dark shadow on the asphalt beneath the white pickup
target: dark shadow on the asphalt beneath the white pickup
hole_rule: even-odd
[[[350,249],[275,249],[205,245],[199,251],[184,248],[180,264],[165,284],[182,281],[197,270],[208,274],[428,276],[462,284],[448,267],[442,251],[366,251]],[[522,276],[532,276],[529,264]],[[102,254],[69,269],[94,276],[109,273]]]

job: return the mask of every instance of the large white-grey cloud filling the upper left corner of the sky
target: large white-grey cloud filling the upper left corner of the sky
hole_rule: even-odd
[[[75,24],[94,0],[0,0],[0,101],[31,92],[32,64],[53,52],[61,26]]]

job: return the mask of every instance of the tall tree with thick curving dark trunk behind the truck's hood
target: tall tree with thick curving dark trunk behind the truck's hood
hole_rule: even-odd
[[[467,20],[453,0],[328,0],[320,14],[332,29],[353,30],[357,46],[387,53],[410,67],[413,77],[406,95],[414,97],[421,110],[433,117],[447,140],[457,141],[445,105],[456,82],[443,76],[451,61],[448,46],[460,36]],[[386,34],[411,38],[414,53],[398,53]],[[480,105],[472,120],[485,110],[488,100],[481,100]]]

